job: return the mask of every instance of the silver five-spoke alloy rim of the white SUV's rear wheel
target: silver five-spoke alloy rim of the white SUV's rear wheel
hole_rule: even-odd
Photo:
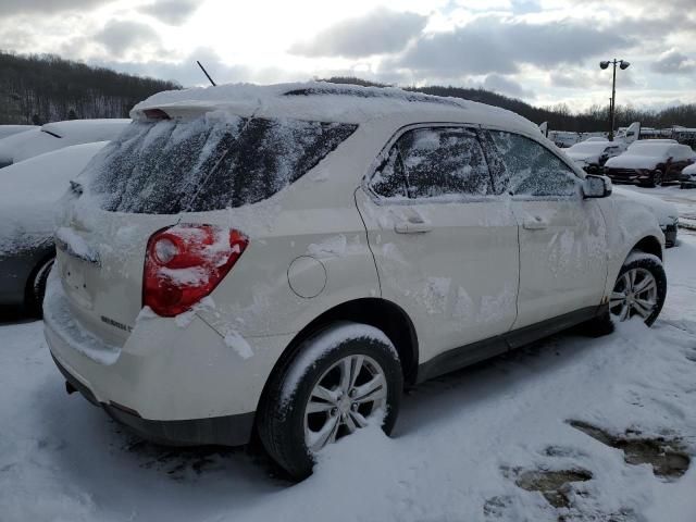
[[[336,361],[319,378],[304,406],[304,444],[311,452],[368,425],[387,403],[384,370],[368,356]]]

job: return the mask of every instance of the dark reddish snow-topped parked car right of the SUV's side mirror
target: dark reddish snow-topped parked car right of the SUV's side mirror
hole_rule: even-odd
[[[672,139],[634,141],[621,156],[607,160],[605,174],[614,182],[655,187],[678,182],[682,170],[696,161],[696,152]]]

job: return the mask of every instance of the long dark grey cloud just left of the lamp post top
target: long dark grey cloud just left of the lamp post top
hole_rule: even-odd
[[[579,63],[631,42],[619,32],[586,23],[567,20],[531,24],[484,16],[452,32],[422,37],[394,65],[455,77],[510,74],[518,71],[520,63],[550,69]]]

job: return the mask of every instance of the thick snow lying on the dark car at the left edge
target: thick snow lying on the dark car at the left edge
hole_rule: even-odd
[[[52,233],[58,200],[104,145],[65,147],[0,170],[0,252]]]

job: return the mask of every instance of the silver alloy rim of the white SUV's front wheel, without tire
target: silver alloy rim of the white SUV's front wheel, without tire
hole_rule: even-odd
[[[634,315],[647,320],[656,309],[658,302],[657,282],[652,274],[641,268],[624,272],[617,281],[609,311],[619,321],[625,321]]]

